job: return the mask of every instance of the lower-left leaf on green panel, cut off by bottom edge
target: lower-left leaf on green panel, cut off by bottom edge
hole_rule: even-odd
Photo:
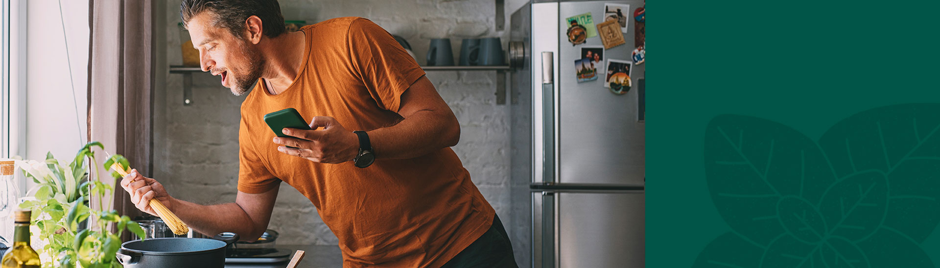
[[[745,241],[733,232],[726,232],[698,253],[698,258],[692,267],[759,267],[761,254],[763,254],[763,248],[760,246]]]

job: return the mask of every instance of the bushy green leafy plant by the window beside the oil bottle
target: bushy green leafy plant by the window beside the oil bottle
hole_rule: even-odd
[[[100,167],[94,147],[104,149],[101,142],[88,142],[71,162],[57,160],[51,153],[43,161],[18,161],[25,176],[37,184],[28,191],[33,193],[31,198],[20,207],[33,211],[32,232],[39,232],[35,236],[41,241],[37,246],[44,245],[37,248],[42,267],[121,267],[115,258],[121,233],[128,230],[144,237],[144,231],[130,217],[88,206],[93,199],[103,204],[104,194],[114,190],[113,183],[102,183],[98,172],[92,172]],[[125,169],[129,166],[127,159],[116,155],[108,158],[103,167],[114,162]]]

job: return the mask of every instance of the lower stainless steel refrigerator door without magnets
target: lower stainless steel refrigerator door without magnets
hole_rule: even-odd
[[[644,267],[645,197],[555,193],[557,267]]]

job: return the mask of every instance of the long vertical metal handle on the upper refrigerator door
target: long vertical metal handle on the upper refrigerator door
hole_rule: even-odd
[[[542,182],[555,183],[555,52],[541,52]]]

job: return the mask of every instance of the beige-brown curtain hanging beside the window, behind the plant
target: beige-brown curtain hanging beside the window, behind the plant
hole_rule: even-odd
[[[88,1],[88,140],[102,141],[109,153],[126,156],[145,176],[150,174],[152,138],[151,2]],[[118,213],[141,215],[120,186],[114,194]]]

